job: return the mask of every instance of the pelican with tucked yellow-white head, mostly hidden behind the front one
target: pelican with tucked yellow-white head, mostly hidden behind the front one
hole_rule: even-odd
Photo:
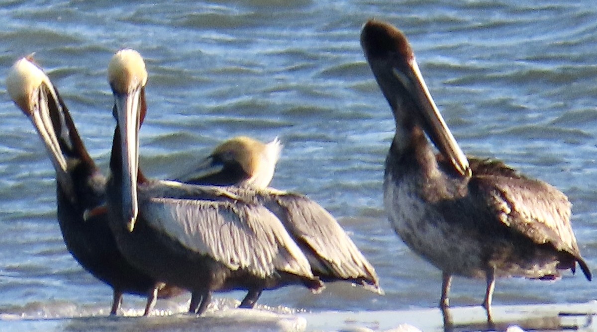
[[[267,144],[245,136],[229,139],[202,163],[204,172],[196,172],[189,182],[257,189],[241,188],[235,194],[264,204],[278,216],[307,255],[313,274],[323,281],[351,281],[382,294],[375,269],[330,213],[300,194],[267,188],[281,149],[277,138]],[[253,308],[260,294],[250,292],[240,307]]]

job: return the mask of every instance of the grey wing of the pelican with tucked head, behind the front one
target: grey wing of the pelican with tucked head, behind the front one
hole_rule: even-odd
[[[303,247],[316,275],[370,284],[381,293],[375,269],[327,210],[300,194],[271,189],[259,193],[261,203]]]

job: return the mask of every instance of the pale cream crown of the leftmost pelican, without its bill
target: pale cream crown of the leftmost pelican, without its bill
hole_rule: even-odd
[[[28,58],[20,58],[8,73],[6,89],[10,98],[23,111],[32,109],[33,92],[45,83],[52,86],[44,71],[33,64]]]

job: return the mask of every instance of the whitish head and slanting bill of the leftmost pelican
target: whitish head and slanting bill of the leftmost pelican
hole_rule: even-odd
[[[7,91],[17,107],[33,122],[38,131],[54,169],[64,190],[72,190],[70,176],[67,175],[67,160],[63,154],[69,146],[69,128],[63,112],[63,103],[50,78],[33,63],[32,58],[24,57],[16,61],[6,79]]]

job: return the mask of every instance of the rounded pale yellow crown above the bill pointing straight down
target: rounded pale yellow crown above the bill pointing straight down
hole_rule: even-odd
[[[127,94],[131,89],[145,86],[147,70],[141,54],[129,48],[116,52],[108,65],[108,82],[112,90],[119,94]]]

